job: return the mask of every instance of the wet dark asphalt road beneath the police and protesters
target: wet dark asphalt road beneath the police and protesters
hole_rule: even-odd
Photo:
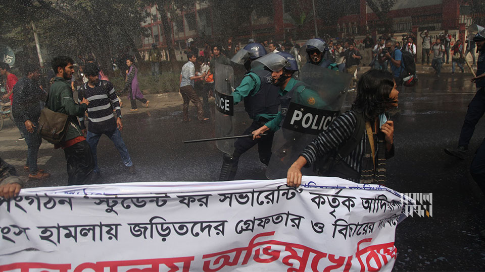
[[[397,228],[395,271],[479,271],[485,269],[484,197],[468,173],[474,149],[485,137],[484,120],[477,125],[470,154],[458,161],[444,154],[457,144],[466,106],[474,95],[469,75],[421,75],[414,88],[401,87],[395,120],[396,156],[387,161],[388,187],[400,192],[432,192],[432,218],[408,218]],[[347,97],[348,107],[354,95]],[[243,111],[242,107],[238,108]],[[195,115],[195,109],[190,113]],[[112,142],[98,147],[103,178],[100,183],[131,181],[217,180],[222,154],[214,143],[182,144],[183,140],[214,137],[212,121],[181,122],[181,107],[126,116],[123,138],[138,174],[130,176]],[[195,120],[195,117],[192,117]],[[246,122],[246,123],[244,123]],[[249,120],[238,125],[244,131]],[[23,158],[25,151],[5,151],[6,158]],[[64,154],[41,149],[50,157],[45,169],[53,176],[29,182],[29,187],[66,185]],[[254,148],[241,156],[236,179],[265,179],[265,167]]]

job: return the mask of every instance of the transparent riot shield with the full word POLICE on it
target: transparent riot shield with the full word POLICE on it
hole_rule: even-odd
[[[266,177],[286,177],[288,168],[303,149],[340,115],[351,80],[352,76],[346,73],[309,63],[303,65],[300,81],[305,88],[293,93],[281,128],[275,132]],[[302,172],[315,175],[312,169],[304,168]]]

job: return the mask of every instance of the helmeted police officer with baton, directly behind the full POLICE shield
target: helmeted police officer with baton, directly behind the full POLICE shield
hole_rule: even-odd
[[[298,64],[295,57],[286,52],[278,52],[276,54],[278,57],[274,56],[270,59],[268,55],[265,60],[261,59],[261,62],[272,71],[272,82],[275,86],[279,87],[280,110],[274,119],[253,131],[253,139],[259,139],[259,134],[268,130],[274,132],[281,127],[289,107],[289,102],[296,95],[295,98],[297,99],[294,99],[294,101],[299,104],[305,105],[310,103],[315,108],[323,107],[324,102],[319,98],[319,95],[313,90],[306,88],[303,82],[293,77],[293,74],[298,72]]]

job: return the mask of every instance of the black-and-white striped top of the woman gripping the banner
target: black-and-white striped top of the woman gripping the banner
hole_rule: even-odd
[[[349,110],[346,113],[338,116],[330,124],[330,126],[318,134],[318,137],[308,145],[300,156],[303,156],[307,160],[306,166],[311,166],[317,158],[322,157],[323,154],[330,152],[336,147],[342,147],[345,145],[347,140],[352,136],[354,132],[357,118],[353,110]],[[344,158],[344,162],[360,173],[362,170],[362,160],[365,155],[366,142],[368,141],[367,133],[363,133],[362,139],[357,147],[350,153],[349,156]],[[374,141],[375,154],[378,152],[377,141]],[[370,152],[369,152],[370,153]],[[394,145],[391,151],[385,152],[385,158],[389,159],[394,156]],[[359,182],[360,180],[355,180],[352,178],[347,178],[348,180]]]

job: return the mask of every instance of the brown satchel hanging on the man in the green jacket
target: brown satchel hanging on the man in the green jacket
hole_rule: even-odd
[[[69,128],[69,115],[54,112],[47,107],[40,111],[39,134],[49,143],[60,144],[66,138]]]

